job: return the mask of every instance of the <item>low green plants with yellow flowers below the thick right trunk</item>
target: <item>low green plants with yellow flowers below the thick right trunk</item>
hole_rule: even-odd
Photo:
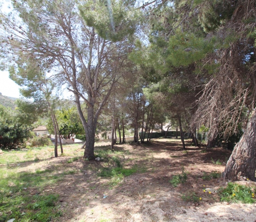
[[[221,201],[226,202],[255,203],[254,195],[252,195],[255,191],[255,187],[229,182],[226,188],[219,189],[219,196]]]

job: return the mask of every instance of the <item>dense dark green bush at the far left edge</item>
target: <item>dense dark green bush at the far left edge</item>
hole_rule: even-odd
[[[32,137],[31,127],[12,120],[0,122],[0,148],[16,149],[25,147],[25,141]]]

